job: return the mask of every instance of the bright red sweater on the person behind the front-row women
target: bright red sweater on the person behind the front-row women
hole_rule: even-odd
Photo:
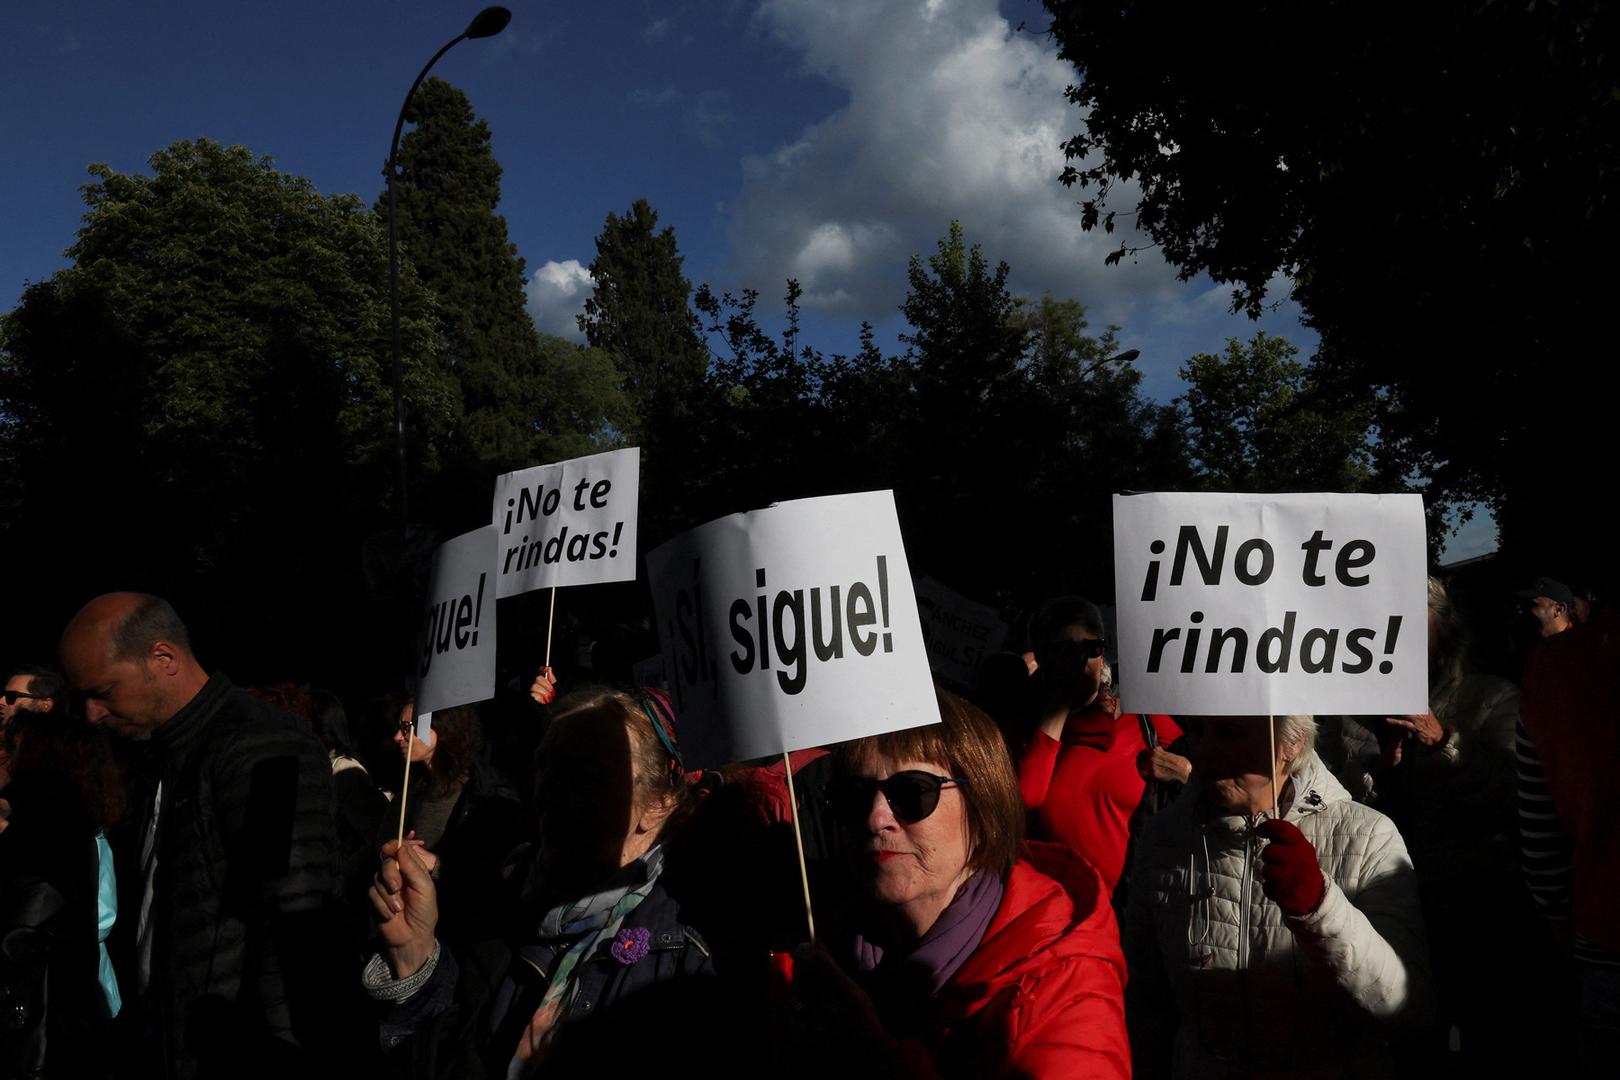
[[[1181,738],[1168,716],[1149,716],[1158,743]],[[1056,840],[1102,874],[1111,894],[1124,873],[1131,814],[1147,790],[1136,758],[1147,743],[1134,712],[1108,716],[1102,706],[1069,714],[1063,742],[1035,732],[1019,763],[1019,790],[1030,811],[1030,834]]]

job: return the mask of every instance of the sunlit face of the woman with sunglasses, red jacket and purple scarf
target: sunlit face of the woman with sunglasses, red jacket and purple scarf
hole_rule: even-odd
[[[933,761],[889,761],[873,758],[854,772],[857,779],[886,780],[896,772],[951,776]],[[878,904],[912,912],[943,912],[956,891],[972,876],[967,860],[972,840],[967,829],[967,793],[951,784],[940,792],[940,803],[922,821],[901,821],[883,792],[873,792],[860,829],[860,873]],[[849,823],[855,827],[857,823]],[[932,916],[922,921],[932,923]]]

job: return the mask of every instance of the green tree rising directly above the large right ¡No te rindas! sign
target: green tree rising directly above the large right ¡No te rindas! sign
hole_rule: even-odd
[[[1226,340],[1181,368],[1187,445],[1209,491],[1362,491],[1374,410],[1341,406],[1286,338]]]

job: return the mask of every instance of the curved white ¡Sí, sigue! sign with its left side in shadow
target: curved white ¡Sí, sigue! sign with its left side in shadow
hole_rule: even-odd
[[[646,570],[688,766],[940,721],[893,492],[718,518]]]

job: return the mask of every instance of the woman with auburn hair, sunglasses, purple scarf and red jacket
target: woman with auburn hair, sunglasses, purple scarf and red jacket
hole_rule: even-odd
[[[1022,845],[1013,763],[983,712],[839,746],[829,797],[863,897],[795,954],[799,1075],[1129,1077],[1119,933],[1097,873]],[[850,1041],[854,1040],[854,1043]]]

